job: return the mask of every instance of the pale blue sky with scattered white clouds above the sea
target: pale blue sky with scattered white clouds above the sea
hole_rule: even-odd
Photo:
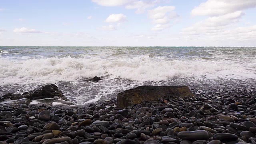
[[[256,46],[256,0],[0,0],[0,46]]]

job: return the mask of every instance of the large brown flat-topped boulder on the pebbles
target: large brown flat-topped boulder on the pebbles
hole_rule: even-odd
[[[117,96],[118,107],[124,108],[143,101],[156,101],[158,98],[179,96],[181,98],[193,97],[194,94],[188,86],[139,86],[121,92]]]

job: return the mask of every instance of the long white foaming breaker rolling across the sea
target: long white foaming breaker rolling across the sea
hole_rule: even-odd
[[[11,61],[0,59],[0,86],[20,83],[76,81],[80,78],[105,76],[128,80],[161,81],[174,77],[237,76],[256,78],[255,64],[246,68],[227,60],[159,60],[142,58],[44,58]]]

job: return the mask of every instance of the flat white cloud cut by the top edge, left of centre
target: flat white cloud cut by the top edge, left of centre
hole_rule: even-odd
[[[123,6],[134,0],[92,0],[92,2],[96,2],[101,6]]]

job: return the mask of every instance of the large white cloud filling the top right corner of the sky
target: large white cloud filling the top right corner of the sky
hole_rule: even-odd
[[[195,7],[194,16],[219,16],[256,7],[256,0],[207,0]]]

